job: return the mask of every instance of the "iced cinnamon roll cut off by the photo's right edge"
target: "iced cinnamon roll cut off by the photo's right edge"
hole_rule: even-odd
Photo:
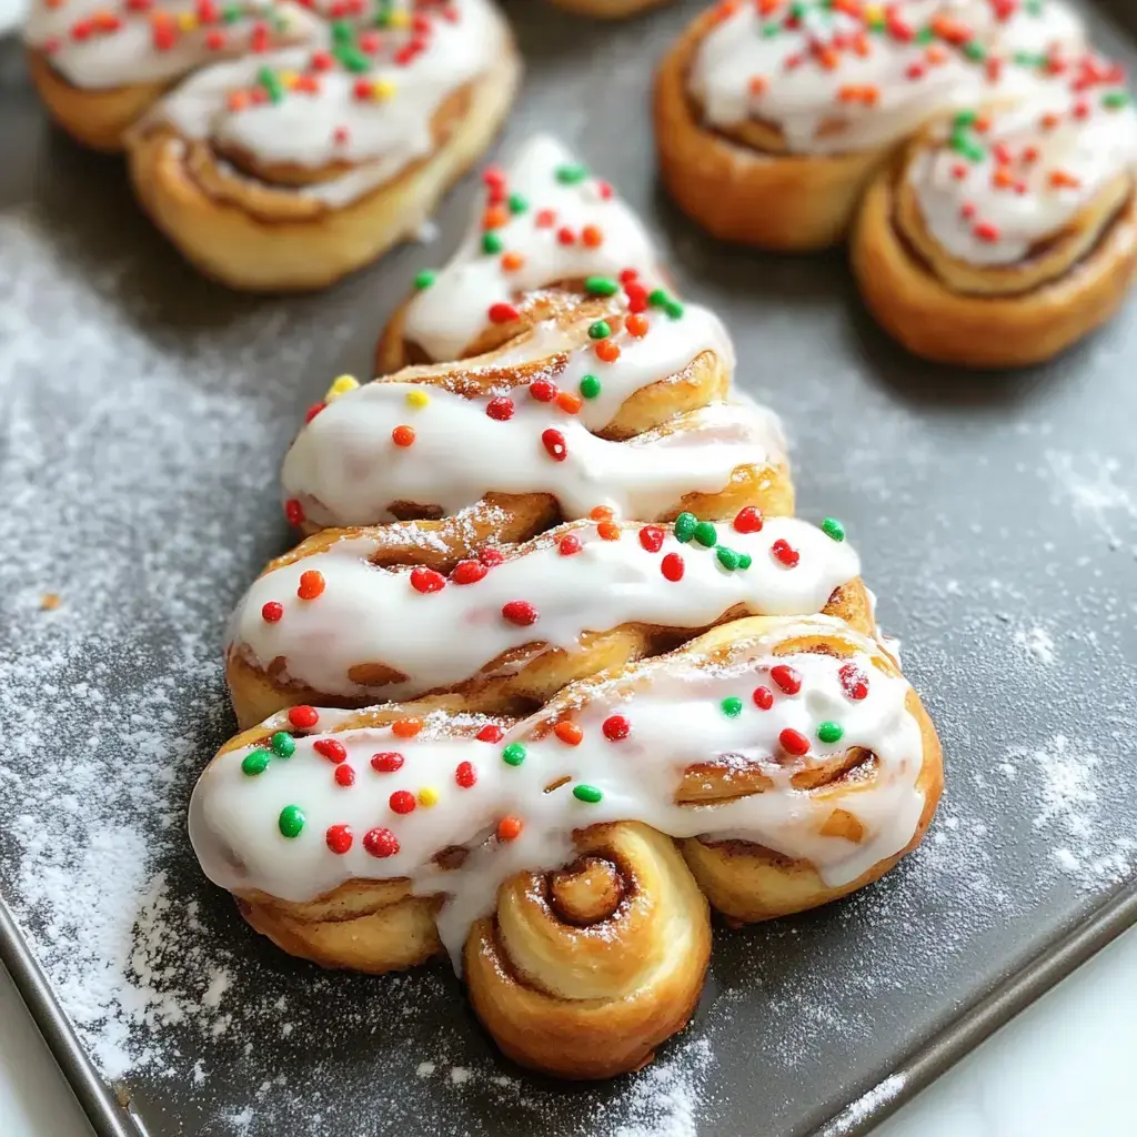
[[[966,109],[871,186],[853,240],[870,310],[927,359],[1048,359],[1107,321],[1137,266],[1137,115],[1082,57],[1009,106]]]

